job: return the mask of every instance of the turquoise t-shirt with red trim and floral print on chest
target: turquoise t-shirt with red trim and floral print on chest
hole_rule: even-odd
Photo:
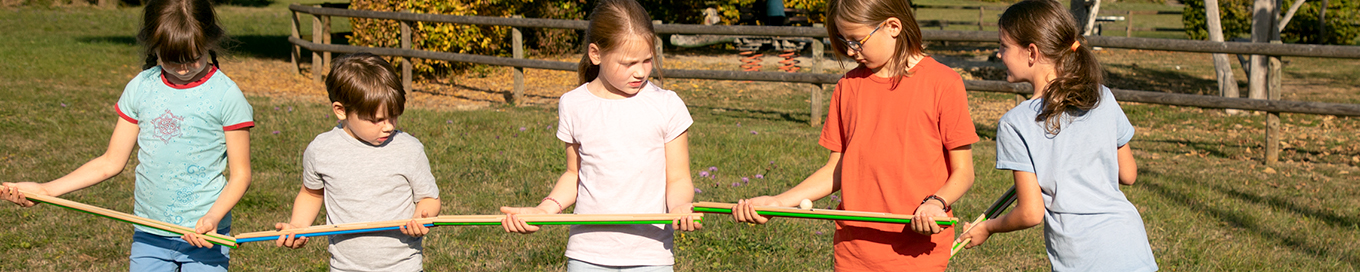
[[[193,228],[227,185],[226,132],[254,126],[241,88],[215,67],[201,80],[175,86],[160,67],[137,73],[114,107],[137,124],[137,167],[132,212]],[[231,226],[230,214],[218,228]],[[137,230],[180,234],[137,226]]]

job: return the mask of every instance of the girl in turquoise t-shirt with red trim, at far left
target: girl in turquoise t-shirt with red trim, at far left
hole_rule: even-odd
[[[151,0],[141,24],[147,63],[113,107],[109,150],[50,182],[7,182],[0,197],[30,207],[19,190],[61,196],[92,186],[121,173],[139,147],[133,214],[194,234],[136,226],[129,269],[227,271],[228,249],[203,234],[230,234],[230,211],[250,185],[250,103],[218,69],[214,50],[226,34],[212,3]]]

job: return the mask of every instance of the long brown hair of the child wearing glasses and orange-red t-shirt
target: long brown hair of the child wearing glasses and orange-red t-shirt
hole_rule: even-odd
[[[831,37],[831,49],[836,56],[850,57],[846,50],[850,48],[840,41],[838,22],[877,26],[888,18],[898,18],[902,22],[902,33],[898,34],[898,44],[894,48],[888,67],[892,71],[892,82],[896,84],[907,75],[907,63],[914,56],[925,56],[925,44],[921,39],[921,27],[917,24],[917,15],[911,11],[911,0],[831,0],[827,3],[827,35]]]

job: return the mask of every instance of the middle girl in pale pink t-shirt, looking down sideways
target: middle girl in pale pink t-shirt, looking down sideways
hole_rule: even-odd
[[[537,207],[502,207],[509,233],[534,233],[515,215],[688,214],[694,200],[687,131],[694,120],[673,91],[649,83],[651,19],[635,0],[601,0],[590,12],[581,87],[562,95],[558,139],[567,171]],[[567,271],[670,271],[675,230],[703,226],[683,218],[670,226],[573,226]]]

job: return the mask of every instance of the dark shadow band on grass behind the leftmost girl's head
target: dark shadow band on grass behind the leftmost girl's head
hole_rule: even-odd
[[[345,35],[350,33],[335,33],[330,34],[330,44],[344,45],[348,44]],[[273,58],[273,60],[288,60],[292,44],[288,42],[287,35],[230,35],[230,39],[223,42],[227,56],[245,56],[245,57],[258,57],[258,58]],[[307,37],[303,37],[305,39]],[[79,37],[76,41],[88,44],[122,44],[140,46],[136,37],[131,35],[99,35],[99,37]],[[311,52],[303,49],[302,56],[310,61]]]

